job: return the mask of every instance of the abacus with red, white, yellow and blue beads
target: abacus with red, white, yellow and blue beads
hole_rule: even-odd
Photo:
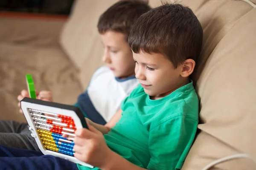
[[[20,101],[20,106],[29,124],[31,136],[35,138],[42,153],[93,167],[74,157],[74,132],[78,128],[87,128],[79,108],[27,97]],[[68,137],[64,138],[63,134]]]

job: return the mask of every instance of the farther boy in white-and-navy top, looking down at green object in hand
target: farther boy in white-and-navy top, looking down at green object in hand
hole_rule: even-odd
[[[93,122],[105,125],[119,110],[122,100],[139,85],[128,36],[135,21],[149,10],[150,7],[143,1],[122,0],[100,16],[97,27],[104,45],[102,60],[106,66],[96,70],[87,90],[79,95],[75,104]],[[20,101],[24,97],[29,97],[26,90],[21,91],[17,99]],[[41,91],[37,98],[52,101],[52,93]],[[0,121],[0,145],[39,150],[28,125],[14,121]]]

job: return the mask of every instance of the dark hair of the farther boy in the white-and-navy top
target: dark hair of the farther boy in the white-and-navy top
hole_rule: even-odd
[[[151,8],[142,0],[121,0],[109,7],[99,18],[98,31],[116,31],[127,36],[135,21]]]

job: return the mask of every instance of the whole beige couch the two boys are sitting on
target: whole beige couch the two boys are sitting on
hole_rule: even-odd
[[[16,96],[26,88],[26,73],[33,75],[38,90],[53,91],[56,102],[76,101],[102,65],[99,14],[116,1],[77,0],[67,21],[0,17],[0,118],[24,121]],[[236,153],[256,159],[256,0],[244,1],[180,0],[204,29],[193,75],[201,122],[183,170],[201,170]],[[210,170],[255,169],[250,159],[233,159]]]

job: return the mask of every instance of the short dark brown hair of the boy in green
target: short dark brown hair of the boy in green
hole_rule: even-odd
[[[128,43],[134,53],[160,53],[175,68],[200,54],[203,29],[195,14],[180,4],[164,4],[143,14],[134,23]]]

